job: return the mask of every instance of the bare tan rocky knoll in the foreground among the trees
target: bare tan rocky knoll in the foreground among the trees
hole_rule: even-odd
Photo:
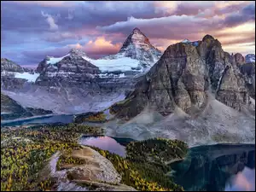
[[[83,147],[82,149],[73,150],[71,156],[84,160],[84,164],[79,166],[70,164],[63,166],[61,171],[52,172],[52,177],[61,177],[58,179],[58,189],[70,190],[72,188],[77,191],[83,188],[90,191],[136,191],[136,189],[121,183],[121,176],[115,170],[113,164],[96,150]],[[52,163],[53,166],[56,166],[56,160],[51,160],[55,161],[55,163]],[[55,167],[51,169],[55,171]]]

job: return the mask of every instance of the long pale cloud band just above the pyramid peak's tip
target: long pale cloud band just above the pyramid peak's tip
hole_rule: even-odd
[[[134,27],[139,27],[143,32],[147,32],[146,35],[149,39],[184,39],[188,38],[188,36],[198,39],[203,34],[211,31],[212,26],[216,25],[218,20],[218,17],[207,20],[189,15],[171,15],[153,19],[130,17],[125,21],[116,22],[110,26],[97,26],[96,29],[102,32],[123,32],[127,34]]]

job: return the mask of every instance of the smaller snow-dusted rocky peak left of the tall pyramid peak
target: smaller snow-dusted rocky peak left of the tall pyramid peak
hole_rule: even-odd
[[[86,84],[94,75],[100,73],[98,67],[84,60],[85,54],[77,49],[61,57],[46,57],[38,65],[37,72],[40,73],[37,84],[47,86],[61,85],[71,86],[74,84]]]

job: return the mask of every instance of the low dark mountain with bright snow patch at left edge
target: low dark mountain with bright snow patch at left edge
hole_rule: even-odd
[[[20,89],[26,83],[35,82],[39,73],[33,69],[20,67],[14,61],[1,58],[1,88],[6,90]]]

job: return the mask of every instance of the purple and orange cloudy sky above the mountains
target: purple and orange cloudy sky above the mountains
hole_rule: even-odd
[[[1,1],[1,57],[36,67],[77,48],[100,58],[135,27],[161,51],[210,34],[230,54],[255,53],[254,1]]]

